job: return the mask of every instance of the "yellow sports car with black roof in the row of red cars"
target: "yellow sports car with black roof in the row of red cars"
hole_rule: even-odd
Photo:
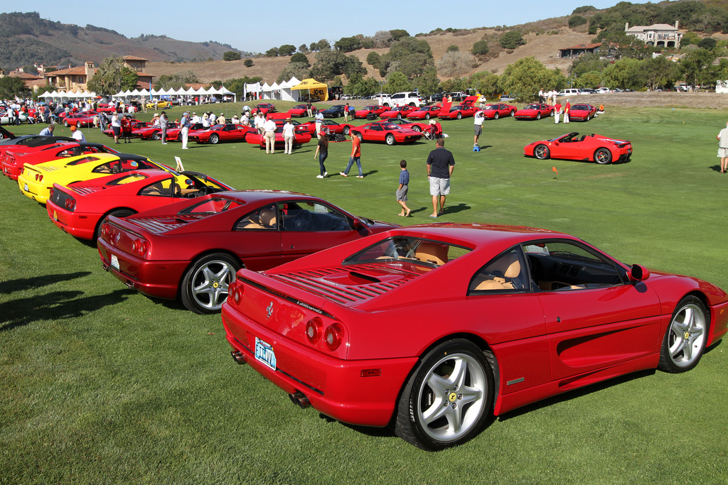
[[[109,174],[143,169],[162,169],[177,173],[146,156],[129,153],[92,153],[37,165],[25,164],[23,173],[17,177],[17,185],[26,196],[45,204],[54,183],[68,185],[79,180],[91,180]]]

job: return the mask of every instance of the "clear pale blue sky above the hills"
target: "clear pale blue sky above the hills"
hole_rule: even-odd
[[[476,7],[480,3],[479,7]],[[643,3],[635,1],[633,3]],[[309,4],[293,0],[259,2],[199,0],[99,2],[34,0],[28,12],[61,23],[110,28],[127,37],[154,33],[183,41],[218,41],[248,52],[265,52],[283,44],[333,41],[361,33],[403,28],[411,35],[435,28],[475,28],[516,25],[571,15],[583,5],[602,9],[616,0],[494,1],[333,1]],[[216,7],[216,5],[223,5]],[[327,5],[322,9],[320,5]],[[7,8],[7,7],[5,7]],[[19,11],[12,9],[8,11]],[[322,12],[322,13],[318,13]]]

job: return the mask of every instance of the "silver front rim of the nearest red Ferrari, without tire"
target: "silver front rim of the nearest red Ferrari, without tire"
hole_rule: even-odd
[[[681,368],[692,366],[703,353],[707,334],[708,324],[702,308],[690,302],[677,310],[668,329],[670,361]]]

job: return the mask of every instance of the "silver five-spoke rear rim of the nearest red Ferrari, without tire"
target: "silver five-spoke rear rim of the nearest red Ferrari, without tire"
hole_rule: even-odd
[[[417,391],[416,419],[424,433],[440,443],[469,433],[485,412],[487,386],[486,370],[467,353],[440,358]]]

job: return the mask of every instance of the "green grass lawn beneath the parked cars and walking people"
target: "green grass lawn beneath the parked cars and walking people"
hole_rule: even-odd
[[[223,109],[229,117],[241,106]],[[443,121],[456,167],[440,221],[573,233],[624,262],[728,289],[720,249],[728,175],[717,172],[715,140],[725,121],[721,111],[671,108],[613,109],[568,127],[501,119],[484,124],[480,153],[472,120]],[[570,130],[631,140],[632,161],[523,157],[523,145]],[[235,188],[311,193],[389,222],[432,221],[432,142],[364,143],[364,179],[325,180],[315,177],[313,143],[290,156],[247,143],[119,146],[171,165],[181,156],[186,169]],[[350,150],[331,144],[330,174]],[[401,159],[411,172],[408,220],[396,217]],[[725,344],[686,374],[644,372],[567,393],[499,417],[456,449],[423,452],[389,430],[293,406],[234,364],[219,316],[126,289],[102,270],[95,247],[55,228],[16,183],[3,177],[0,186],[0,483],[728,482]]]

